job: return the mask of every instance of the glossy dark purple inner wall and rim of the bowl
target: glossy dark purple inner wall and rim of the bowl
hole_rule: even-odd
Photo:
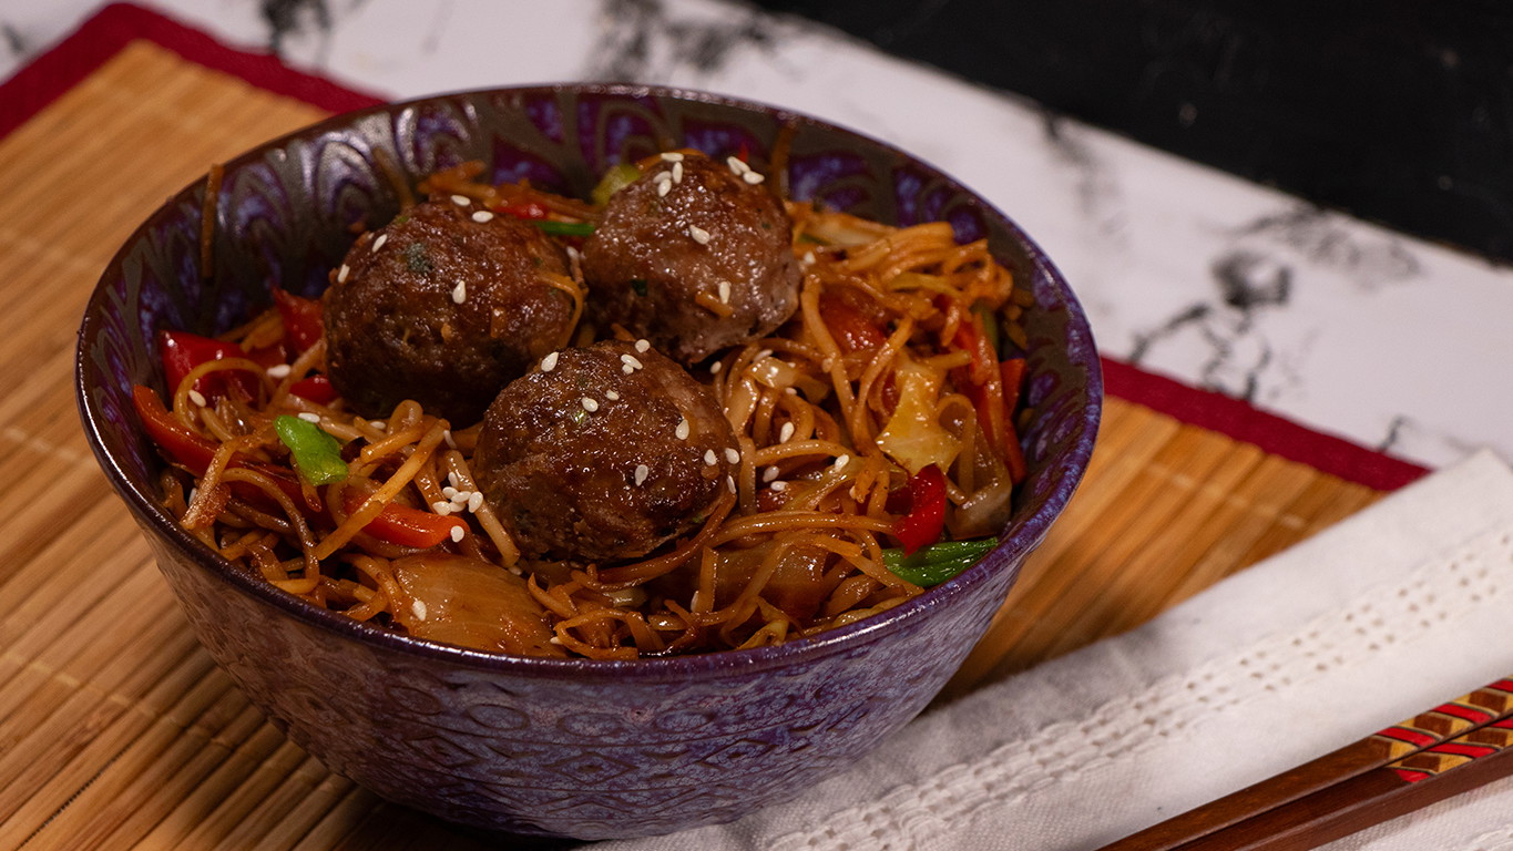
[[[434,171],[483,160],[489,180],[530,178],[545,189],[587,197],[605,168],[676,147],[717,157],[741,154],[794,200],[899,225],[949,221],[961,240],[988,239],[1018,284],[1035,295],[1036,307],[1026,317],[1024,396],[1033,422],[1021,435],[1030,472],[1000,547],[983,562],[885,615],[816,641],[642,662],[511,659],[410,639],[284,596],[216,559],[157,506],[162,463],[130,404],[133,384],[163,390],[153,346],[157,330],[224,331],[268,307],[275,283],[318,295],[354,239],[354,225],[386,222],[404,192]],[[1101,402],[1097,352],[1076,298],[1039,248],[935,168],[808,116],[696,92],[595,85],[464,92],[342,115],[224,163],[209,201],[215,228],[206,265],[207,186],[206,178],[192,183],[144,222],[88,304],[77,360],[88,437],[151,534],[189,550],[239,591],[360,641],[481,667],[596,676],[622,676],[619,668],[626,665],[673,676],[781,664],[918,617],[993,571],[1017,568],[1065,508],[1092,450]]]

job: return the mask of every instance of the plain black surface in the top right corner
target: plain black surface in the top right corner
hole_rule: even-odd
[[[760,2],[1318,204],[1513,260],[1513,5]]]

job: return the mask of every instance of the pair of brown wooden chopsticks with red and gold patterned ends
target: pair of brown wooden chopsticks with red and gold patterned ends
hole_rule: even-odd
[[[1513,774],[1513,677],[1100,851],[1306,849]]]

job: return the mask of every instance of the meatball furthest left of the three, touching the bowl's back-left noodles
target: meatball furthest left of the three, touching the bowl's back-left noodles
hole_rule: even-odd
[[[415,399],[455,426],[572,333],[563,249],[463,197],[363,234],[325,292],[325,366],[360,414]]]

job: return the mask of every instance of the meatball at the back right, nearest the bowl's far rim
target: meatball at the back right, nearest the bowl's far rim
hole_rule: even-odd
[[[685,364],[787,322],[802,277],[793,225],[747,174],[756,180],[744,166],[663,154],[611,195],[583,249],[593,320]]]

